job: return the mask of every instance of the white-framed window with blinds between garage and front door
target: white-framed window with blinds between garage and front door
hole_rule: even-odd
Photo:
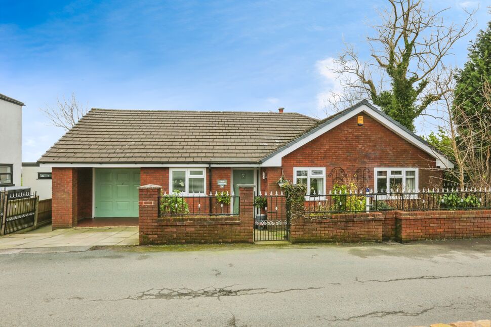
[[[204,194],[204,169],[171,169],[170,192],[179,191],[185,194]]]

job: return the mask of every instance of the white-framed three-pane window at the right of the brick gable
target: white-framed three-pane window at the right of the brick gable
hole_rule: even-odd
[[[418,189],[418,168],[376,168],[375,177],[377,193],[387,190],[416,192]]]

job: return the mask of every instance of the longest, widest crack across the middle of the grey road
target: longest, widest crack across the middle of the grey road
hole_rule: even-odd
[[[158,300],[158,299],[163,299],[163,300],[174,300],[174,299],[180,299],[180,300],[191,300],[195,298],[217,298],[220,300],[221,297],[228,297],[228,296],[243,296],[243,295],[257,295],[257,294],[279,294],[279,293],[285,293],[285,292],[294,292],[294,291],[309,291],[309,290],[319,290],[323,289],[322,287],[320,288],[314,288],[314,287],[309,287],[305,289],[287,289],[287,290],[279,290],[279,291],[270,291],[266,288],[258,288],[258,289],[237,289],[234,290],[233,287],[235,285],[229,285],[223,288],[215,288],[215,287],[208,287],[204,289],[198,289],[198,290],[192,290],[192,289],[186,289],[186,288],[175,288],[175,289],[150,289],[147,291],[143,292],[138,292],[136,295],[130,295],[126,298],[122,299],[114,299],[114,300],[104,300],[104,299],[97,299],[93,301],[103,301],[103,302],[110,302],[110,301],[122,301],[122,300]]]

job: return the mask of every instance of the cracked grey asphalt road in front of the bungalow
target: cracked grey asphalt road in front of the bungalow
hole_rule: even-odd
[[[489,319],[491,239],[0,255],[5,326],[413,326]]]

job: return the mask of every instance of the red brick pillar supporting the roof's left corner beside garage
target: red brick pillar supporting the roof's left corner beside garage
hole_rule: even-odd
[[[52,223],[53,229],[71,228],[77,225],[76,168],[53,168],[52,170]]]

